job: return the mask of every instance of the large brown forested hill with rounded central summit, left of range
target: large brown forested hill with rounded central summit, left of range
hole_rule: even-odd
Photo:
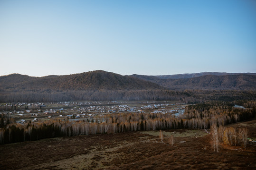
[[[17,90],[150,90],[160,85],[132,76],[90,71],[66,76],[30,77],[19,74],[0,76],[1,91]]]

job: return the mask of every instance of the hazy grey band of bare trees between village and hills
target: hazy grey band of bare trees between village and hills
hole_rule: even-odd
[[[177,100],[185,103],[206,101],[254,101],[255,91],[237,90],[56,90],[0,89],[0,102],[64,102],[76,100]]]

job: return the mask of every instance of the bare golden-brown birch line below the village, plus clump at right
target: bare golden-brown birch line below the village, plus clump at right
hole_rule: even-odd
[[[95,117],[95,122],[87,122],[86,120],[63,121],[55,119],[48,122],[32,122],[24,125],[10,124],[5,128],[0,128],[0,141],[3,141],[4,136],[5,140],[7,136],[13,136],[16,131],[18,134],[23,133],[23,137],[26,140],[30,140],[28,136],[33,136],[34,133],[41,133],[42,129],[47,133],[58,134],[58,136],[78,136],[176,128],[208,129],[216,125],[217,127],[219,126],[217,130],[218,135],[213,136],[213,141],[215,141],[214,148],[216,148],[217,151],[220,140],[224,140],[226,144],[243,144],[246,146],[245,137],[241,137],[241,134],[246,134],[243,133],[243,129],[235,131],[229,128],[225,130],[222,129],[224,129],[223,126],[228,123],[254,117],[254,109],[237,110],[232,107],[226,109],[219,106],[209,107],[209,109],[196,109],[196,105],[193,107],[186,108],[185,113],[179,117],[172,116],[169,113],[113,113],[105,115],[104,118],[101,117],[101,119],[104,119],[102,122],[98,121],[100,118]],[[14,127],[10,128],[10,126],[17,127],[18,129]],[[213,132],[216,134],[216,129],[213,129]],[[47,135],[45,136],[47,137]],[[33,138],[33,140],[36,139]]]

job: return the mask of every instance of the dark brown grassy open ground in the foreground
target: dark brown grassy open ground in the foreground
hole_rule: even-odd
[[[247,127],[256,137],[256,120]],[[204,130],[177,129],[51,138],[0,145],[0,170],[255,170],[256,145],[220,145],[213,151]],[[168,144],[173,135],[174,145]]]

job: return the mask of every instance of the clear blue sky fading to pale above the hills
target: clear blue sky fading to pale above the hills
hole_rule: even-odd
[[[0,76],[256,72],[256,0],[0,0]]]

